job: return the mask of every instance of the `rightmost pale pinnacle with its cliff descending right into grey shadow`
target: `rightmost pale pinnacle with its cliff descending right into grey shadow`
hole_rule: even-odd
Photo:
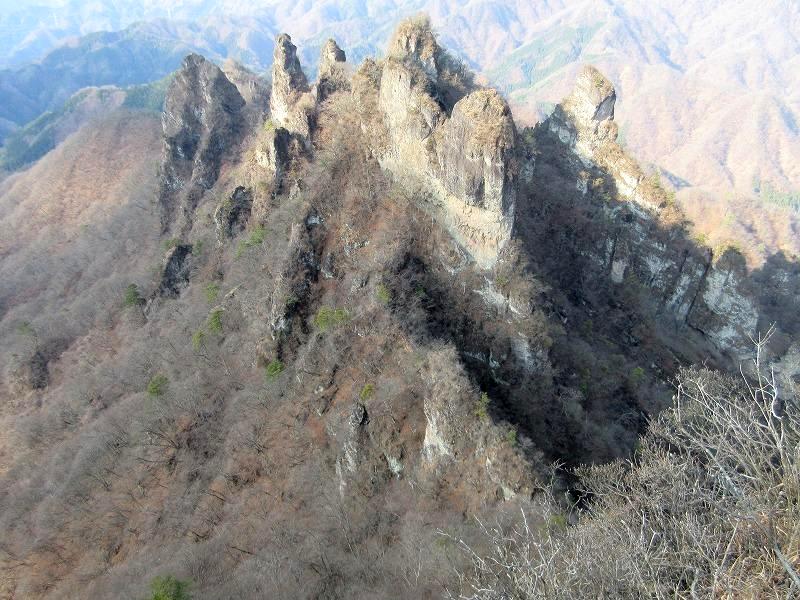
[[[615,100],[610,82],[586,67],[536,130],[548,160],[574,181],[576,206],[597,215],[597,235],[578,240],[576,250],[595,265],[592,276],[641,286],[657,313],[743,359],[763,312],[745,261],[735,250],[712,252],[689,239],[657,176],[646,176],[617,143]]]

